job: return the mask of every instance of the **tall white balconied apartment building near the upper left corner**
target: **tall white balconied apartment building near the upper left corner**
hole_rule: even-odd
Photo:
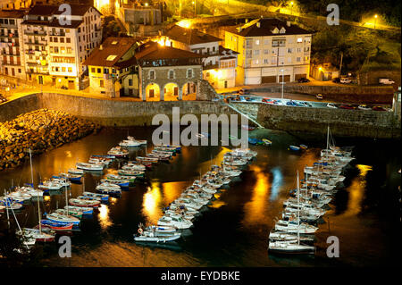
[[[27,79],[55,88],[80,89],[83,64],[102,39],[101,13],[70,4],[71,22],[58,5],[35,5],[21,23]]]

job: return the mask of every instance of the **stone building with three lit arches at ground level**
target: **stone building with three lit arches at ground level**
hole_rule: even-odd
[[[138,48],[139,95],[147,100],[186,100],[202,80],[201,54],[147,42]]]

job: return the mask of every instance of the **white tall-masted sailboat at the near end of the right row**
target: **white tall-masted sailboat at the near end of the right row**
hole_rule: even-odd
[[[299,179],[297,172],[297,202],[300,199]],[[297,211],[297,228],[300,226],[300,209]],[[294,240],[275,240],[269,241],[268,250],[271,252],[290,254],[290,253],[314,253],[315,247],[300,244],[300,231],[297,231],[297,242]]]

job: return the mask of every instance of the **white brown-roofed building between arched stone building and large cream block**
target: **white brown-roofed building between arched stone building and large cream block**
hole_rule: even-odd
[[[221,38],[175,25],[166,31],[162,41],[168,46],[205,55],[203,79],[208,80],[214,88],[235,86],[239,53],[220,46]]]

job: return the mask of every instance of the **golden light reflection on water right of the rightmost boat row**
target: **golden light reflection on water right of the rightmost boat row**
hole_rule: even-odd
[[[365,176],[367,175],[367,172],[373,170],[372,166],[364,164],[357,164],[356,167],[360,173],[359,176],[352,180],[352,183],[350,183],[350,186],[348,187],[348,209],[344,215],[354,215],[360,213],[366,185]]]

